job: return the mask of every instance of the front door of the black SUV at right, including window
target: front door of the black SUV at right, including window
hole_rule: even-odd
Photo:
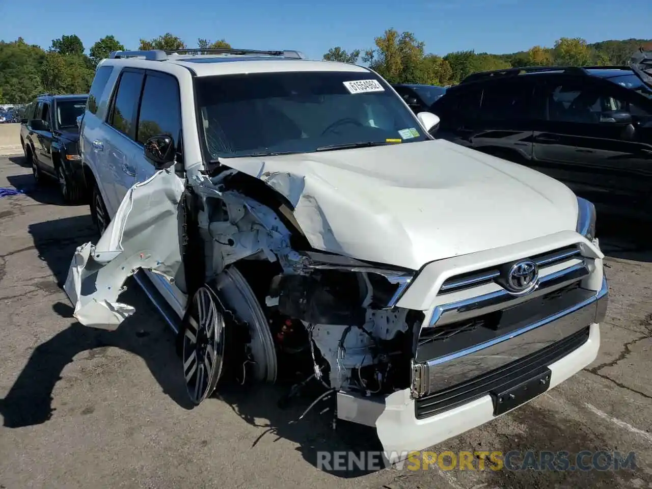
[[[538,169],[595,203],[649,206],[650,102],[590,76],[551,80],[546,91],[547,117],[535,131]],[[629,114],[631,121],[614,119],[614,113]]]

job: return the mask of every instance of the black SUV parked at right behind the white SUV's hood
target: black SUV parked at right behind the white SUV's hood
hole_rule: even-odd
[[[608,213],[647,220],[652,88],[646,78],[633,65],[471,74],[430,108],[441,119],[435,137],[535,168]]]

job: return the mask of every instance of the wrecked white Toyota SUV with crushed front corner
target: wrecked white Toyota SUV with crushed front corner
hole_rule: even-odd
[[[72,259],[75,317],[116,328],[134,275],[194,402],[301,370],[393,454],[531,400],[597,355],[593,205],[437,121],[297,52],[112,53],[81,126],[102,237]]]

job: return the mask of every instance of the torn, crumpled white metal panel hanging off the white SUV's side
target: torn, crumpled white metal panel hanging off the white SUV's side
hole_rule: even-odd
[[[184,181],[157,171],[130,188],[97,244],[77,248],[64,286],[83,325],[115,329],[134,308],[117,301],[128,276],[149,269],[175,283],[181,269]]]

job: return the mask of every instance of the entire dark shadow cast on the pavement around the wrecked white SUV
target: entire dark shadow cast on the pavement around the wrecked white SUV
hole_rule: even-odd
[[[59,287],[65,283],[70,259],[77,246],[87,241],[96,241],[90,216],[76,216],[40,222],[29,226],[39,258],[46,261],[57,279]],[[183,366],[175,348],[175,335],[166,327],[158,312],[133,279],[129,279],[127,290],[120,301],[136,308],[136,313],[126,319],[115,331],[85,327],[72,319],[72,323],[50,340],[35,348],[27,364],[8,391],[0,400],[0,414],[7,428],[22,428],[42,424],[53,414],[52,393],[61,379],[61,373],[76,355],[83,351],[101,355],[108,347],[119,348],[140,356],[164,393],[182,406],[192,408],[186,393]],[[73,308],[69,303],[52,304],[53,314],[72,318]],[[153,318],[155,318],[153,320]],[[293,398],[284,409],[278,401],[288,393],[291,385],[227,385],[205,402],[216,402],[219,398],[252,426],[266,428],[259,439],[252,443],[252,451],[262,437],[284,438],[297,443],[309,464],[326,469],[319,463],[319,452],[327,451],[380,451],[376,431],[372,428],[338,421],[333,426],[334,398],[320,402],[306,416],[297,421],[303,411],[323,392],[306,389],[303,396]],[[325,408],[328,411],[323,412]],[[376,460],[383,468],[382,461]],[[337,467],[335,467],[337,468]],[[331,471],[337,477],[359,477],[375,470],[363,470],[352,466],[348,470]]]

